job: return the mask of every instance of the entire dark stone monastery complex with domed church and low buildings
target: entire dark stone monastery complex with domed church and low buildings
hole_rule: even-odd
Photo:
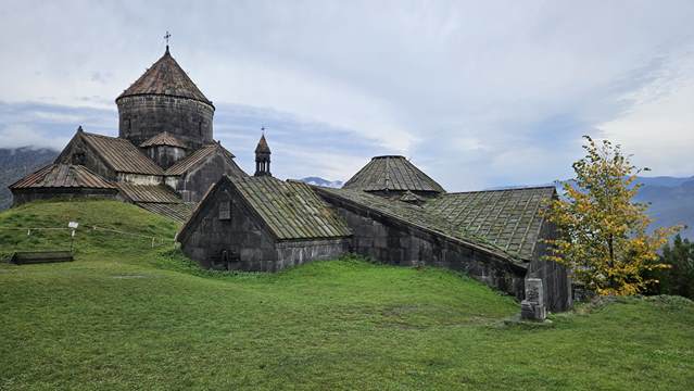
[[[373,157],[341,189],[282,181],[264,135],[249,176],[214,140],[214,104],[168,46],[116,104],[118,137],[78,128],[53,164],[11,186],[15,203],[135,203],[184,222],[177,241],[203,267],[276,272],[356,253],[459,270],[518,299],[526,279],[541,279],[550,311],[571,305],[567,270],[542,260],[554,187],[447,192],[398,155]]]

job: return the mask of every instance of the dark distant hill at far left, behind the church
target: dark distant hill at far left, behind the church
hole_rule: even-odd
[[[34,149],[29,147],[8,149],[0,148],[0,211],[12,205],[12,193],[8,186],[14,184],[27,174],[52,163],[58,151],[50,149]]]

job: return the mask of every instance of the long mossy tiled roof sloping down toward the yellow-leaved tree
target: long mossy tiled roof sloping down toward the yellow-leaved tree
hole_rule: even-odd
[[[415,205],[350,189],[315,188],[379,214],[514,261],[529,261],[539,240],[542,203],[554,188],[442,194]]]

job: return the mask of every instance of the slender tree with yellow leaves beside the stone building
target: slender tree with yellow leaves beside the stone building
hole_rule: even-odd
[[[545,258],[568,266],[573,279],[598,294],[639,293],[655,282],[644,272],[667,267],[657,250],[679,227],[647,234],[647,205],[632,201],[641,188],[636,176],[647,168],[632,165],[619,146],[584,138],[586,155],[572,165],[576,178],[545,212],[558,231],[547,240]]]

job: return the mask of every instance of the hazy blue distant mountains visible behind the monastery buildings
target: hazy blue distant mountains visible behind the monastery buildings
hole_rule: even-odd
[[[12,193],[8,186],[41,166],[51,163],[59,152],[50,149],[30,147],[8,149],[0,148],[0,210],[12,205]],[[300,179],[306,184],[340,188],[340,180],[327,180],[311,176]],[[678,177],[640,177],[643,184],[635,201],[648,203],[648,215],[654,218],[652,228],[672,225],[685,225],[683,237],[694,239],[694,176]],[[554,184],[561,193],[563,182]]]

